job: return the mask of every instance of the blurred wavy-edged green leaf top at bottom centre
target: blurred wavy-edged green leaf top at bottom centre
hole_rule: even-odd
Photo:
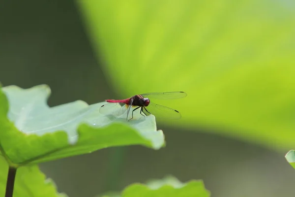
[[[150,180],[147,184],[134,183],[124,189],[121,195],[106,194],[101,197],[210,197],[203,181],[191,180],[181,183],[177,178],[167,176]]]

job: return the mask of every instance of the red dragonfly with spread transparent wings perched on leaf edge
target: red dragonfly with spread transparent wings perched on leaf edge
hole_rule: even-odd
[[[140,109],[140,114],[142,116],[148,116],[153,114],[159,116],[160,118],[172,118],[179,119],[181,114],[170,107],[155,104],[150,102],[149,99],[180,99],[186,97],[185,92],[165,92],[165,93],[145,93],[141,95],[135,95],[128,99],[122,100],[111,100],[107,99],[109,102],[100,107],[99,112],[106,115],[120,116],[127,110],[127,118],[129,121],[133,119],[133,112]],[[128,120],[128,115],[131,112],[131,118]]]

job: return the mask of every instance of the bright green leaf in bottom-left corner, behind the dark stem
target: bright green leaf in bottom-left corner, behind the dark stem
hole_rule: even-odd
[[[4,197],[7,181],[8,165],[0,157],[0,196]],[[57,193],[55,183],[46,179],[37,165],[24,166],[17,169],[13,197],[67,197]]]

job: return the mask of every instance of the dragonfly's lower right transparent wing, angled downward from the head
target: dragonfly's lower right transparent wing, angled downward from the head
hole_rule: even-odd
[[[146,115],[152,114],[156,118],[179,119],[181,114],[170,107],[155,104],[150,102],[149,105],[143,109]]]

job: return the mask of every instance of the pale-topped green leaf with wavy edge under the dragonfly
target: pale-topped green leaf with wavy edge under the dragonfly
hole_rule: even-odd
[[[99,107],[105,102],[88,105],[78,100],[49,107],[46,101],[50,88],[46,85],[29,89],[8,86],[2,91],[0,151],[11,166],[37,164],[111,146],[140,144],[157,150],[165,145],[163,132],[156,131],[154,116],[126,123],[125,117],[100,114]]]

